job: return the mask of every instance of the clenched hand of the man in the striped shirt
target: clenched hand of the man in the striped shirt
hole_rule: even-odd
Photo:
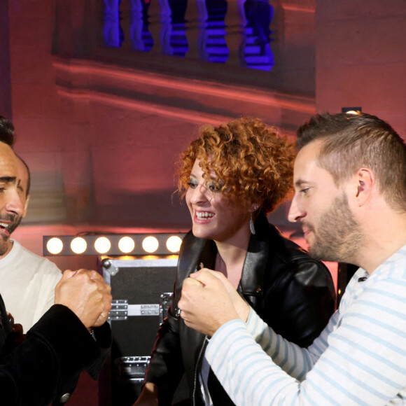
[[[178,306],[186,325],[209,337],[230,320],[246,321],[250,311],[230,281],[221,272],[207,268],[183,281]]]

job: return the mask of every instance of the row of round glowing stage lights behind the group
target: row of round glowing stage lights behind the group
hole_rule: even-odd
[[[171,255],[185,234],[44,236],[43,255]]]

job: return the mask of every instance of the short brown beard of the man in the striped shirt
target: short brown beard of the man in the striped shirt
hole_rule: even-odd
[[[310,229],[314,230],[311,226]],[[335,197],[330,209],[323,213],[314,237],[314,244],[309,246],[313,258],[353,263],[363,240],[363,232],[344,193]]]

